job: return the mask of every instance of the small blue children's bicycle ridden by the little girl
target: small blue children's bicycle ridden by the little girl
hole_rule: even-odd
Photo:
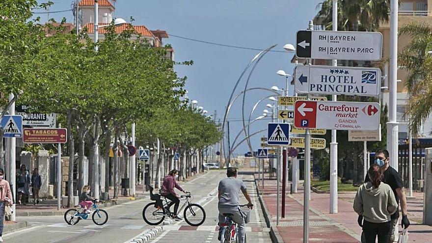
[[[108,221],[108,213],[107,211],[103,209],[99,209],[96,202],[98,199],[93,200],[93,206],[91,206],[91,210],[93,211],[93,214],[91,216],[91,219],[93,222],[97,225],[103,225]],[[89,214],[83,213],[83,208],[80,209],[69,209],[64,213],[64,220],[69,225],[75,225],[80,221],[80,219],[87,219]]]

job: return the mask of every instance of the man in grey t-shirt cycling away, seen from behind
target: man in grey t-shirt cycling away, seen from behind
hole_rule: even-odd
[[[228,167],[226,175],[228,178],[222,179],[219,182],[217,194],[219,198],[219,225],[225,222],[225,216],[223,216],[223,214],[231,214],[233,221],[239,225],[239,243],[243,243],[246,223],[244,222],[243,213],[239,206],[240,191],[243,192],[243,195],[248,202],[247,207],[252,209],[253,204],[243,181],[237,179],[237,169],[234,167]],[[219,228],[219,236],[217,237],[219,241],[221,237],[220,233],[221,228]]]

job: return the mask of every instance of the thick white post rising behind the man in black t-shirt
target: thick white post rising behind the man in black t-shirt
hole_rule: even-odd
[[[398,0],[390,2],[390,98],[387,122],[387,150],[390,156],[390,166],[399,169],[398,145],[399,126],[396,119],[397,75],[398,75]]]

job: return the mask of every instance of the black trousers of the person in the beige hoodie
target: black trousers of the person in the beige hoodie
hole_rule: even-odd
[[[391,236],[391,221],[385,223],[372,223],[363,221],[363,233],[366,243],[375,243],[378,235],[378,243],[388,243]]]

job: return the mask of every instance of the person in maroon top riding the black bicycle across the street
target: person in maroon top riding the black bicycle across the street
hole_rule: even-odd
[[[180,196],[175,192],[174,188],[179,189],[182,192],[186,191],[179,186],[179,184],[177,184],[176,182],[176,178],[179,176],[179,171],[176,169],[171,170],[168,175],[165,177],[165,179],[163,179],[163,183],[162,183],[162,189],[160,191],[160,194],[166,198],[168,198],[169,200],[171,200],[174,203],[174,219],[175,220],[182,220],[181,217],[177,216],[177,211],[179,209],[179,205],[180,205]]]

